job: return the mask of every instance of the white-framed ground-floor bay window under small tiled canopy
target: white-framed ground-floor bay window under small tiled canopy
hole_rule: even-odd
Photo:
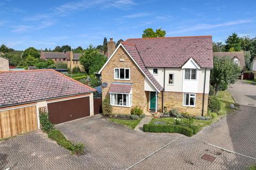
[[[110,93],[110,104],[112,106],[132,106],[132,94],[116,94]]]

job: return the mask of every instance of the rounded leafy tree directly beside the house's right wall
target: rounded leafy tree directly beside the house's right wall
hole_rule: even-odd
[[[215,95],[217,95],[217,92],[219,91],[220,84],[234,84],[237,81],[240,73],[241,69],[231,58],[214,57],[210,82],[214,86]]]

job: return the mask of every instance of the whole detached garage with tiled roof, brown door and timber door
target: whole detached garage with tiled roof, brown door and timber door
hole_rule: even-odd
[[[39,113],[54,124],[92,116],[95,89],[54,70],[0,72],[0,139],[40,129]]]

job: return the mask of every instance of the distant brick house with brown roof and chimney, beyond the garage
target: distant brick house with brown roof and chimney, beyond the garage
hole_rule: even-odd
[[[79,57],[82,53],[73,53],[71,52],[43,52],[41,50],[41,59],[42,60],[53,60],[55,63],[57,62],[65,62],[68,65],[70,70],[74,69],[74,67],[79,67],[81,71],[84,71],[84,67],[80,64]]]

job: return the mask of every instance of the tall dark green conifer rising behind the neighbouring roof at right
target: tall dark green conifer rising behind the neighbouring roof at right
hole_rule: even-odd
[[[226,51],[227,52],[239,52],[242,50],[241,47],[241,38],[237,36],[236,33],[233,33],[231,36],[228,36],[226,40]]]

